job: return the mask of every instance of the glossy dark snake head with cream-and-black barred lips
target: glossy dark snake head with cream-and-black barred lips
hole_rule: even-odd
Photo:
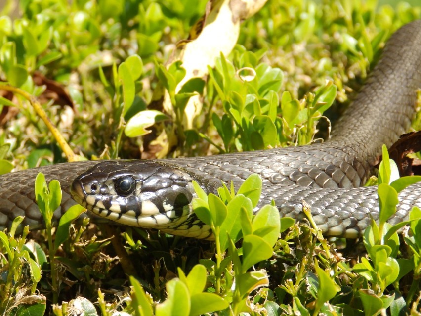
[[[196,225],[190,207],[196,196],[192,180],[187,171],[159,161],[104,161],[78,176],[71,194],[101,217],[174,234],[185,223]]]

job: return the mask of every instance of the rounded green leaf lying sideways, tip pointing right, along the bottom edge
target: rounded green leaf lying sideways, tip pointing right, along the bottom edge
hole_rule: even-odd
[[[206,313],[228,308],[229,304],[214,293],[196,293],[191,295],[191,309],[189,316],[199,316]]]

